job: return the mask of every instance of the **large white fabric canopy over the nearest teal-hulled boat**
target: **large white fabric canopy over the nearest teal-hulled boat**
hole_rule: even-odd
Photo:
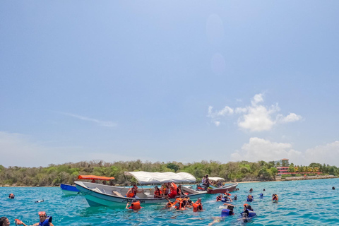
[[[167,182],[174,183],[195,183],[196,177],[188,172],[124,172],[126,176],[132,176],[140,184],[162,184]]]

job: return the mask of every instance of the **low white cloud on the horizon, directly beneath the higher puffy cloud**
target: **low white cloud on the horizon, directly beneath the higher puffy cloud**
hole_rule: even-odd
[[[237,150],[231,154],[232,160],[266,162],[288,158],[294,160],[295,164],[304,163],[304,157],[300,151],[292,149],[290,143],[275,143],[262,138],[250,138],[249,143],[242,145],[242,150]]]

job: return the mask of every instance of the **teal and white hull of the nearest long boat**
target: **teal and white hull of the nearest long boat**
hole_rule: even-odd
[[[93,184],[86,182],[75,182],[76,188],[83,194],[89,206],[111,206],[111,207],[125,207],[126,203],[131,203],[133,198],[127,198],[124,196],[114,195],[114,191],[125,191],[126,188],[119,186],[107,186],[101,184]],[[127,188],[128,189],[128,188]],[[193,190],[192,190],[193,191]],[[124,194],[124,193],[121,193]],[[138,194],[140,196],[141,194]],[[200,198],[206,195],[205,192],[196,192],[196,194],[189,194],[189,198]],[[144,204],[158,204],[167,203],[165,198],[151,198],[143,197],[137,198],[137,200]],[[175,201],[175,198],[171,199]]]

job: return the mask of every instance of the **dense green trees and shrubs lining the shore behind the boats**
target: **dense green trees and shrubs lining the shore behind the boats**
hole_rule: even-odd
[[[297,167],[298,172],[314,172],[319,170],[323,174],[338,176],[339,169],[335,166],[311,163],[309,167]],[[301,171],[300,171],[300,170]],[[290,167],[291,173],[297,173],[295,166]],[[313,170],[313,171],[310,171]],[[198,181],[208,174],[210,177],[222,177],[227,182],[267,181],[275,179],[278,170],[273,162],[228,162],[201,161],[183,164],[182,162],[69,162],[62,165],[48,167],[4,167],[0,165],[0,185],[12,186],[59,186],[59,184],[73,184],[79,174],[95,174],[97,176],[115,177],[115,184],[129,184],[131,178],[124,176],[125,171],[146,172],[189,172]]]

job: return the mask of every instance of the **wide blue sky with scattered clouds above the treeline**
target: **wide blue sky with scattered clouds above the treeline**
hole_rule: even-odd
[[[1,1],[1,165],[339,159],[339,1]]]

